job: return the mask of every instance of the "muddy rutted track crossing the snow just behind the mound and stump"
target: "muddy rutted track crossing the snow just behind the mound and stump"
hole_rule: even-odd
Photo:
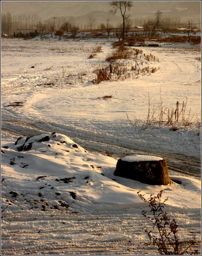
[[[132,154],[153,154],[166,160],[168,170],[201,177],[200,158],[182,154],[172,154],[171,152],[165,154],[154,150],[141,150],[140,147],[135,145],[135,141],[132,139],[119,138],[113,135],[106,136],[101,132],[85,131],[74,126],[57,124],[55,122],[50,124],[47,122],[33,123],[3,119],[2,131],[8,131],[16,136],[35,136],[46,132],[62,133],[91,152],[105,154],[108,148],[110,152],[113,152],[112,157],[117,159]]]

